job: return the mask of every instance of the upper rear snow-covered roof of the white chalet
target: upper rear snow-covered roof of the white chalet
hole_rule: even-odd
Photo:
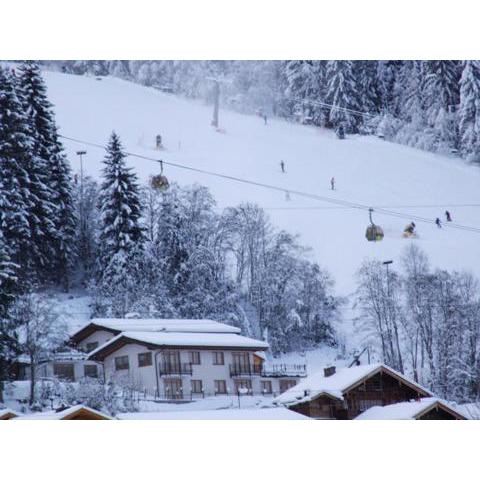
[[[209,319],[94,318],[74,332],[71,341],[79,342],[94,331],[102,329],[113,333],[123,331],[240,333],[237,327]]]

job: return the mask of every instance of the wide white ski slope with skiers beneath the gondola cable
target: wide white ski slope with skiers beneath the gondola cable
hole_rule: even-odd
[[[115,78],[44,72],[55,106],[60,133],[106,144],[112,130],[130,152],[161,158],[195,168],[371,206],[388,206],[407,215],[443,221],[445,207],[454,222],[480,228],[480,169],[460,159],[446,158],[373,137],[349,136],[337,140],[333,132],[257,116],[220,111],[226,133],[210,126],[212,108],[202,102],[164,94]],[[166,149],[154,150],[161,134]],[[79,171],[77,150],[87,150],[85,173],[99,177],[100,149],[64,140],[74,171]],[[282,174],[280,161],[286,165]],[[141,180],[159,171],[155,162],[130,157]],[[208,186],[220,209],[240,202],[255,202],[270,214],[274,225],[301,236],[312,247],[312,259],[326,267],[336,291],[355,290],[355,272],[365,257],[394,260],[394,267],[409,242],[428,253],[434,266],[468,269],[480,277],[480,234],[438,229],[417,222],[420,238],[402,238],[407,219],[374,214],[385,231],[382,242],[367,242],[368,212],[335,207],[221,178],[165,167],[170,181]],[[330,190],[334,176],[337,188]],[[413,208],[409,205],[440,205]]]

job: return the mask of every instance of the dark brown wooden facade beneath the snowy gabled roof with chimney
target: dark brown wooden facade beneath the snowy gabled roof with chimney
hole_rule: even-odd
[[[384,368],[349,386],[342,394],[343,400],[340,400],[333,395],[320,393],[308,401],[290,405],[288,408],[311,418],[352,420],[370,407],[430,396],[425,390]]]

